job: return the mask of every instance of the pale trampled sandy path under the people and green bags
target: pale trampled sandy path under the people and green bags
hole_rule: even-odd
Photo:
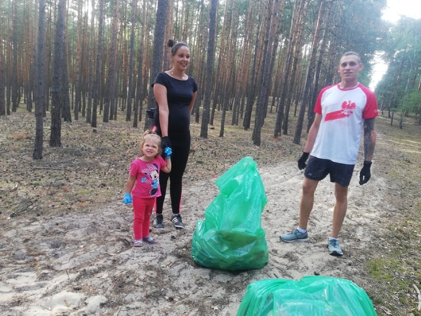
[[[27,214],[0,229],[0,314],[209,316],[236,315],[248,284],[266,278],[305,275],[346,278],[369,286],[357,273],[360,250],[381,244],[371,230],[387,211],[386,181],[376,174],[365,185],[358,172],[349,186],[348,213],[341,230],[344,256],[327,252],[334,207],[334,185],[321,181],[309,223],[307,243],[284,243],[279,234],[293,229],[303,173],[295,163],[257,167],[268,203],[262,213],[269,262],[262,269],[221,271],[201,267],[190,257],[196,221],[219,193],[216,179],[186,183],[183,222],[176,230],[164,213],[164,229],[152,228],[155,245],[132,248],[132,211],[120,200],[56,216]],[[100,196],[98,196],[100,199]],[[365,201],[362,203],[361,201]],[[167,207],[168,210],[168,207]],[[3,222],[4,223],[4,222]],[[1,223],[0,223],[1,224]],[[361,272],[361,271],[360,271]]]

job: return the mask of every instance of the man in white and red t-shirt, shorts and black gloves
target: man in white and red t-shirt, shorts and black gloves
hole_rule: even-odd
[[[333,256],[343,255],[337,237],[346,214],[348,185],[357,162],[363,126],[364,165],[360,172],[360,185],[371,177],[371,160],[376,144],[374,120],[378,116],[377,100],[373,91],[358,82],[361,69],[363,64],[357,53],[350,51],[343,54],[337,67],[340,83],[319,93],[314,123],[298,159],[298,168],[305,168],[298,227],[280,236],[285,242],[308,240],[307,224],[314,192],[319,181],[330,175],[331,182],[335,182],[336,197],[332,234],[328,239],[329,254]]]

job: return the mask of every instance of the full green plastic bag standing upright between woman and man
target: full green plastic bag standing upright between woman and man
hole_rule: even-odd
[[[245,157],[215,183],[220,193],[196,223],[191,257],[201,266],[224,270],[263,267],[269,252],[261,213],[267,203],[257,164]]]

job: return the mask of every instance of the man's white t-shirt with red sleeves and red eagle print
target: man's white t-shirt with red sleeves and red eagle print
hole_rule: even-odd
[[[314,112],[322,115],[311,155],[337,163],[355,165],[363,120],[378,116],[376,94],[358,84],[343,90],[326,87],[317,97]]]

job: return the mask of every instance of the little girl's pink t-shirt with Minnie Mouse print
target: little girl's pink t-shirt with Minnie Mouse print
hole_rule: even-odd
[[[165,160],[159,156],[146,162],[137,158],[130,164],[129,174],[136,177],[136,182],[131,190],[133,197],[151,198],[161,196],[159,185],[159,172],[167,166]]]

